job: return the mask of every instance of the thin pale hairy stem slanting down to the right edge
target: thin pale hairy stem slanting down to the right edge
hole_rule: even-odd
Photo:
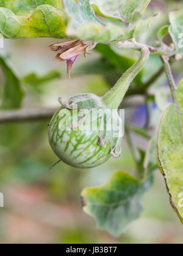
[[[179,102],[178,102],[178,98],[176,96],[176,83],[174,81],[173,73],[171,72],[171,67],[170,67],[170,63],[169,63],[168,59],[165,57],[162,57],[162,61],[164,63],[164,68],[165,68],[165,73],[166,73],[167,80],[168,80],[168,85],[170,86],[171,97],[173,99],[174,104],[176,105],[176,110],[177,110],[178,119],[179,119],[179,126],[180,126],[180,130],[181,130],[181,137],[182,137],[182,142],[183,142],[183,126],[182,126],[181,110],[179,108]]]

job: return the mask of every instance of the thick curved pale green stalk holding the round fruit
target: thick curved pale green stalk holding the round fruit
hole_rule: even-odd
[[[138,72],[143,68],[148,58],[149,49],[148,47],[143,46],[138,61],[126,70],[113,88],[102,97],[104,104],[106,104],[108,108],[115,109],[119,107],[127,89],[131,85],[132,80],[134,80]]]

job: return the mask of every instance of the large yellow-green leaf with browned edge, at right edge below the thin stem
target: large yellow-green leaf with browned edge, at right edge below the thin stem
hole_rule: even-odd
[[[176,91],[183,121],[183,80]],[[175,105],[170,105],[163,113],[157,138],[157,159],[160,171],[167,184],[170,202],[183,222],[183,143]]]

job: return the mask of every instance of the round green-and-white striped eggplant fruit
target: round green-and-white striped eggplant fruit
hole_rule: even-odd
[[[120,145],[121,138],[109,138],[111,131],[101,130],[101,118],[90,118],[91,111],[99,113],[105,108],[101,98],[93,94],[79,94],[62,103],[48,132],[51,148],[59,159],[73,167],[91,168],[115,154],[113,149]]]

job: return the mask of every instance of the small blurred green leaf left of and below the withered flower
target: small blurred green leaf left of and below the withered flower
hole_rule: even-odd
[[[37,87],[60,77],[61,73],[57,70],[52,70],[43,76],[38,76],[36,73],[30,73],[23,78],[23,83],[32,87]]]

